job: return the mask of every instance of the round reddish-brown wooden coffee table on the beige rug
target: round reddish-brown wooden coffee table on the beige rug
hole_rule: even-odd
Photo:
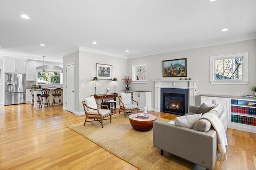
[[[129,120],[132,125],[132,128],[136,131],[150,131],[153,128],[153,122],[156,120],[156,116],[152,114],[148,114],[148,119],[136,118],[137,114],[129,115]]]

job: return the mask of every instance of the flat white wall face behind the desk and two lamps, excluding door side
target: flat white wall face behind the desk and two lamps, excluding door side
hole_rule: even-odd
[[[82,101],[84,98],[95,94],[95,82],[92,79],[96,76],[96,63],[112,65],[112,79],[116,77],[116,92],[120,94],[124,84],[122,78],[127,73],[127,59],[89,53],[85,51],[79,52],[79,112],[84,112]],[[82,87],[84,84],[84,87]],[[114,92],[114,82],[112,80],[100,79],[96,82],[97,94],[105,94],[105,88],[110,88],[110,93]],[[101,103],[101,100],[97,101]],[[116,103],[119,105],[119,103]]]

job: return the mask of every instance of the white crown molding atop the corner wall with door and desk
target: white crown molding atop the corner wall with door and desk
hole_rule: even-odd
[[[82,46],[77,46],[73,49],[70,49],[70,50],[62,53],[62,56],[69,55],[69,54],[74,53],[76,51],[85,51],[85,52],[89,52],[89,53],[96,53],[96,54],[102,54],[102,55],[108,55],[108,56],[112,56],[112,57],[119,57],[119,58],[127,59],[126,55],[120,55],[120,54],[116,54],[116,53],[109,53],[107,51],[101,51],[101,50],[98,50],[98,49],[91,49],[91,48],[82,47]]]

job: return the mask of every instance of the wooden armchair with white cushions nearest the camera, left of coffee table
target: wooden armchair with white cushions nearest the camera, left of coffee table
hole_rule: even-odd
[[[87,119],[93,119],[90,121],[99,121],[101,123],[102,128],[103,128],[103,120],[110,119],[110,123],[111,123],[110,109],[108,108],[107,105],[96,103],[94,96],[91,96],[90,98],[86,98],[85,101],[83,101],[82,103],[83,103],[84,112],[85,112],[84,125],[86,122],[89,122]],[[97,109],[97,105],[105,106],[108,109]]]

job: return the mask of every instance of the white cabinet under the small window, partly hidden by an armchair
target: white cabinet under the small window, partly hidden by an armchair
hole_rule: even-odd
[[[138,102],[138,107],[140,110],[143,109],[143,106],[148,106],[148,111],[152,110],[151,108],[151,91],[147,90],[122,90],[125,93],[132,93],[132,98]]]

